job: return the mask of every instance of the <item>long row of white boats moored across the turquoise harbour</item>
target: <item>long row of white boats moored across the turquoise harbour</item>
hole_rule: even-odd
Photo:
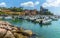
[[[15,19],[22,19],[22,20],[30,20],[32,22],[36,22],[39,24],[50,24],[52,21],[57,21],[59,20],[58,17],[54,16],[44,16],[44,15],[36,15],[36,16],[3,16],[0,17],[0,19],[6,19],[6,20],[15,20]]]

